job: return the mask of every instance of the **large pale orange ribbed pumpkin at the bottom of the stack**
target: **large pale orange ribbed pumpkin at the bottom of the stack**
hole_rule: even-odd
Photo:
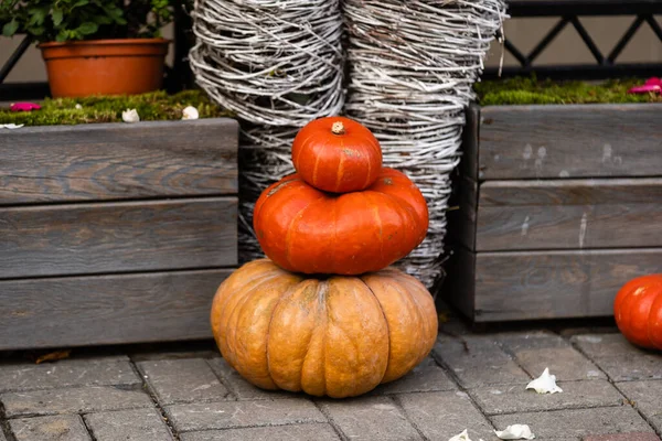
[[[397,269],[316,279],[268,259],[221,284],[211,324],[223,357],[249,383],[333,398],[402,377],[437,336],[430,293]]]

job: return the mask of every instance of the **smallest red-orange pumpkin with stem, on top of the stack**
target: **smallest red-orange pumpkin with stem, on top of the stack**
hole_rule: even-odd
[[[367,189],[382,169],[382,148],[360,122],[325,117],[306,125],[292,143],[292,163],[303,181],[324,192]]]

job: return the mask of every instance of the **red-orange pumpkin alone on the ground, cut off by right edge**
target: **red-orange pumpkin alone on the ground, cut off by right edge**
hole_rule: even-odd
[[[613,316],[630,343],[662,349],[662,273],[623,284],[613,302]]]

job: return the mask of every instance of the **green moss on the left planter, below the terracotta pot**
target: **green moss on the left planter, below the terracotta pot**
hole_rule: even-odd
[[[76,105],[82,108],[77,109]],[[55,126],[94,122],[121,122],[121,112],[136,109],[141,121],[181,119],[186,106],[197,108],[200,118],[234,117],[213,104],[202,90],[185,90],[174,95],[154,92],[132,96],[97,96],[86,98],[45,99],[38,111],[12,112],[0,109],[0,123]]]

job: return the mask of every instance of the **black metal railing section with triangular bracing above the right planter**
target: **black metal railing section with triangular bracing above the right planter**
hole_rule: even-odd
[[[515,44],[506,39],[505,50],[517,61],[519,66],[503,67],[502,77],[536,74],[538,77],[602,79],[623,76],[661,76],[662,63],[618,63],[628,43],[637,31],[645,23],[662,44],[662,28],[655,14],[662,14],[662,0],[511,0],[508,2],[509,14],[515,18],[551,18],[558,17],[558,22],[543,39],[524,54]],[[633,21],[608,54],[602,54],[589,32],[581,24],[580,17],[633,17]],[[595,63],[568,65],[536,65],[535,61],[549,44],[568,25],[575,28],[579,37],[590,51]],[[483,76],[499,76],[495,67],[487,68]]]

